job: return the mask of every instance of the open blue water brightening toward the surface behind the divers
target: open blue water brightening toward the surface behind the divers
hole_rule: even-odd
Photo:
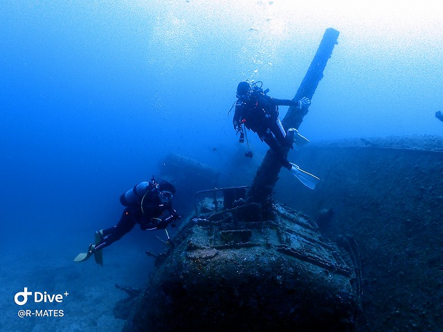
[[[440,8],[294,2],[2,1],[0,249],[15,270],[2,320],[16,319],[11,299],[36,280],[78,294],[74,283],[91,270],[122,282],[134,267],[117,259],[107,272],[71,264],[94,230],[118,221],[118,196],[170,152],[226,172],[244,149],[228,116],[237,83],[263,81],[269,95],[293,98],[326,28],[340,36],[304,136],[442,134]],[[257,155],[266,151],[250,139]],[[128,237],[109,259],[136,243],[134,265],[145,266],[150,240]],[[77,277],[42,277],[58,266]]]

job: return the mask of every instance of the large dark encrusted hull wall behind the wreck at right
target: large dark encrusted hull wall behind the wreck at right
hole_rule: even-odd
[[[323,236],[359,243],[358,331],[441,331],[442,136],[311,143],[298,156],[323,181],[298,194],[282,172],[275,199],[318,221]]]

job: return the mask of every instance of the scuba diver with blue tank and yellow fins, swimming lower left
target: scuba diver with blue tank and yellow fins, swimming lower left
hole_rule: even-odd
[[[138,223],[141,230],[166,231],[168,242],[170,242],[166,227],[181,216],[172,208],[175,187],[168,181],[156,183],[154,176],[150,182],[143,181],[135,185],[120,196],[120,203],[126,206],[120,221],[114,227],[106,230],[98,230],[95,234],[96,242],[90,244],[87,252],[80,253],[74,261],[86,261],[94,255],[97,264],[102,265],[102,249],[111,243],[121,239],[123,235],[134,228]],[[163,216],[168,211],[167,216]],[[163,218],[162,218],[163,216]],[[172,244],[172,243],[171,243]]]

